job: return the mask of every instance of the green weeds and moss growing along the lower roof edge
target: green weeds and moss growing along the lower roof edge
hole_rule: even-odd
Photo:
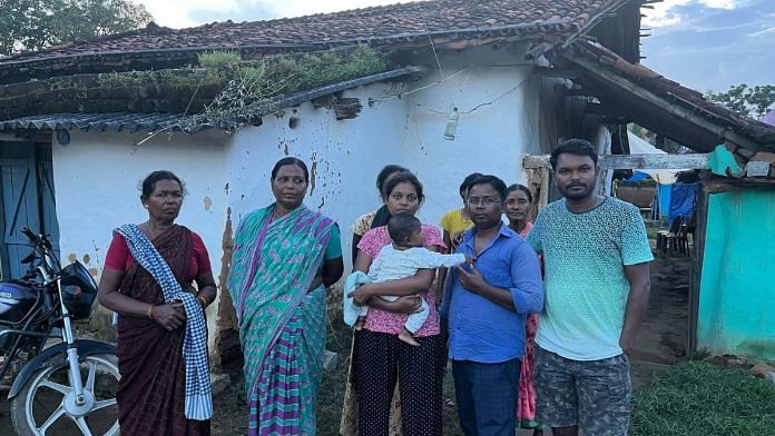
[[[0,110],[21,117],[127,110],[185,113],[189,127],[234,128],[276,111],[285,96],[375,75],[387,67],[386,57],[367,46],[261,60],[213,51],[199,56],[199,66],[45,79],[0,98]]]

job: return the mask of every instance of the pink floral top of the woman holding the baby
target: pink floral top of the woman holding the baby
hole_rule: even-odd
[[[423,224],[421,231],[422,236],[425,238],[426,248],[438,247],[440,251],[447,249],[444,240],[441,237],[441,231],[439,231],[438,228]],[[359,242],[357,248],[374,259],[382,247],[387,244],[391,244],[390,235],[387,235],[387,227],[383,226],[366,231],[361,242]],[[428,303],[430,313],[428,315],[428,320],[425,320],[425,324],[423,324],[414,336],[423,337],[438,335],[441,330],[439,329],[439,316],[435,307],[435,287],[431,286],[421,297]],[[364,328],[371,331],[398,335],[406,323],[406,318],[409,318],[406,314],[393,314],[372,307],[369,309],[369,315],[366,315]]]

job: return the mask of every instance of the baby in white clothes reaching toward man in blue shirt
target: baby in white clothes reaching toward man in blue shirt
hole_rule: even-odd
[[[453,267],[467,261],[464,255],[442,255],[423,247],[420,220],[410,214],[399,214],[387,221],[391,245],[383,247],[369,268],[369,276],[356,271],[345,283],[344,321],[360,330],[369,313],[369,307],[356,306],[351,294],[364,283],[384,283],[413,276],[419,269]],[[395,301],[399,297],[380,295],[379,297]],[[428,303],[422,301],[422,309],[406,319],[399,339],[419,346],[412,334],[416,333],[428,319]]]

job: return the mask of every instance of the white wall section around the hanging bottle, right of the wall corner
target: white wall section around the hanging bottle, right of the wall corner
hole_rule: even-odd
[[[404,162],[425,185],[424,221],[438,225],[448,210],[461,207],[458,187],[470,172],[492,174],[507,185],[527,181],[522,155],[540,153],[539,86],[527,46],[488,46],[442,51],[434,73],[406,96],[408,128]],[[496,101],[493,101],[496,100]],[[453,107],[459,108],[454,140],[444,139]]]

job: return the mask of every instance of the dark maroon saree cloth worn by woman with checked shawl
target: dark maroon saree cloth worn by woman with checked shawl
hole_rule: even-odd
[[[190,268],[192,231],[173,226],[154,240],[179,284]],[[164,293],[156,279],[134,261],[119,291],[136,300],[161,305]],[[153,319],[118,318],[118,424],[121,435],[209,435],[209,420],[186,418],[184,328],[167,331]]]

